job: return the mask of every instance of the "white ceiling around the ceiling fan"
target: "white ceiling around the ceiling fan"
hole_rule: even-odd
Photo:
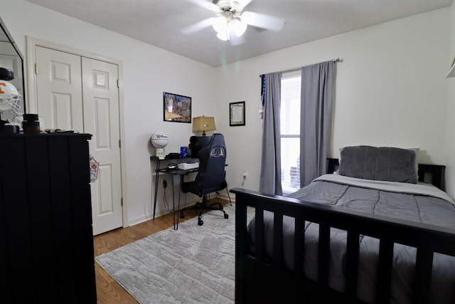
[[[453,0],[253,0],[244,11],[278,16],[275,33],[249,26],[245,43],[231,46],[208,27],[186,26],[215,16],[191,0],[27,0],[214,67],[289,46],[450,6]]]

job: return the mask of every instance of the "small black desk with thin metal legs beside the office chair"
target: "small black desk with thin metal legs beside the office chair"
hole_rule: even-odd
[[[155,169],[155,196],[154,196],[154,217],[155,219],[155,211],[156,211],[156,196],[158,196],[158,187],[159,187],[159,174],[170,174],[171,175],[171,187],[172,187],[172,207],[173,207],[173,227],[176,229],[176,212],[175,212],[175,194],[174,194],[174,189],[173,189],[173,177],[181,176],[181,175],[186,175],[191,172],[198,172],[198,168],[194,169],[188,169],[188,170],[183,170],[183,169],[168,169],[167,166],[164,168],[160,167],[161,162],[166,161],[168,163],[182,163],[182,162],[188,162],[188,160],[192,159],[191,157],[182,157],[182,158],[176,158],[176,159],[159,159],[156,156],[151,156],[150,161],[155,161],[156,162],[156,169]],[[178,192],[178,209],[180,209],[180,195],[181,192]],[[177,216],[179,214],[177,213]],[[178,221],[177,221],[177,229],[178,229]]]

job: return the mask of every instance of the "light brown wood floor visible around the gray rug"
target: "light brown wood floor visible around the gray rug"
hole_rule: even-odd
[[[214,199],[215,200],[215,199]],[[223,199],[216,199],[222,204],[228,204],[229,201]],[[180,219],[179,222],[193,219],[196,216],[196,211],[187,211],[185,219]],[[194,224],[197,225],[197,220],[193,219]],[[113,231],[100,234],[93,238],[93,246],[95,248],[95,256],[102,253],[107,253],[116,248],[127,245],[139,239],[144,239],[150,234],[158,231],[168,229],[173,226],[172,214],[160,216],[154,220],[145,221],[144,223],[137,224],[127,228],[119,228]],[[124,290],[119,283],[109,276],[109,274],[102,269],[98,263],[95,263],[95,276],[97,282],[97,303],[98,304],[138,304],[127,290]]]

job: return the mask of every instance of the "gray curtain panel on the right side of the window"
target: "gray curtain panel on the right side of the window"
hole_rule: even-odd
[[[331,134],[334,61],[301,69],[300,186],[326,173]]]

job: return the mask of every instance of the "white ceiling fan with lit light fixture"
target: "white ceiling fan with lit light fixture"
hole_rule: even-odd
[[[241,36],[247,26],[255,26],[270,31],[281,31],[284,20],[275,16],[259,14],[252,11],[243,11],[252,0],[186,0],[216,14],[216,17],[204,19],[183,28],[183,33],[192,34],[212,26],[217,37],[229,41],[232,45],[243,42]]]

